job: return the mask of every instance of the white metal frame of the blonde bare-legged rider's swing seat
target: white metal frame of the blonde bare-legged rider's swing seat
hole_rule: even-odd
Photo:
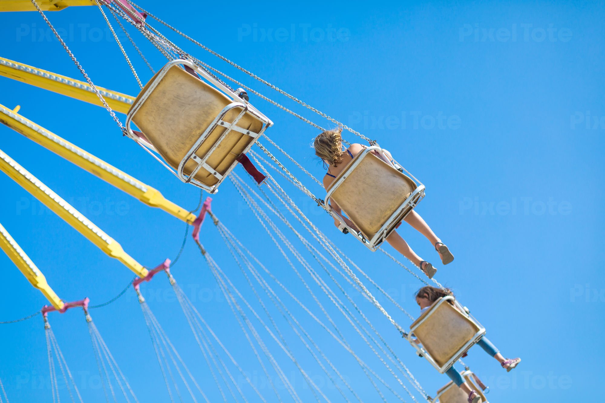
[[[392,169],[399,170],[400,172],[401,172],[401,170],[405,170],[405,172],[407,172],[408,175],[411,176],[411,179],[416,183],[416,189],[414,189],[413,192],[411,192],[410,196],[408,196],[408,198],[405,199],[405,201],[399,207],[396,208],[396,210],[393,212],[393,214],[391,214],[391,216],[387,219],[387,221],[385,221],[385,223],[376,232],[376,234],[374,234],[374,236],[371,237],[371,239],[366,239],[361,233],[359,233],[358,231],[349,227],[347,225],[347,223],[344,221],[344,219],[342,219],[341,215],[336,213],[336,211],[334,211],[332,205],[330,205],[330,198],[332,198],[333,193],[336,191],[336,189],[338,189],[338,187],[342,184],[342,182],[344,182],[345,179],[347,179],[349,173],[352,172],[368,154],[370,154],[374,151],[378,152],[382,156],[382,160],[385,163],[387,163],[390,167],[392,167]],[[409,214],[410,211],[413,210],[413,208],[416,207],[416,205],[420,202],[420,200],[422,200],[422,198],[424,198],[425,187],[418,179],[416,179],[414,177],[414,175],[412,175],[410,172],[408,172],[401,165],[397,164],[396,161],[391,160],[391,158],[388,158],[388,156],[385,154],[385,150],[382,149],[381,147],[379,147],[379,146],[365,147],[364,150],[362,150],[360,152],[360,154],[361,155],[356,155],[355,158],[353,158],[352,163],[349,163],[348,166],[345,167],[344,171],[338,175],[339,177],[338,177],[338,179],[336,179],[336,182],[330,185],[327,195],[325,195],[324,204],[325,204],[327,211],[330,213],[330,215],[332,215],[333,218],[335,218],[336,220],[338,220],[341,223],[339,228],[341,228],[341,227],[347,228],[348,232],[352,233],[353,236],[356,237],[356,239],[361,241],[368,249],[370,249],[371,251],[374,252],[378,249],[378,247],[380,246],[382,241],[384,241],[385,238],[388,237],[391,234],[391,232],[393,232],[393,230],[397,227],[397,225],[405,219],[407,214]],[[377,197],[379,197],[379,196],[377,196]],[[407,211],[407,213],[402,214],[402,212],[404,210],[407,210],[408,207],[411,207],[411,208]],[[344,213],[346,213],[346,211],[344,211]]]

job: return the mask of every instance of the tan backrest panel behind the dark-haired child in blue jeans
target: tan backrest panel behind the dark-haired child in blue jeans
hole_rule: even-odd
[[[411,325],[414,335],[439,367],[444,366],[466,343],[473,340],[480,330],[473,320],[448,301],[439,303],[441,299],[435,301]],[[419,326],[414,329],[418,323]]]

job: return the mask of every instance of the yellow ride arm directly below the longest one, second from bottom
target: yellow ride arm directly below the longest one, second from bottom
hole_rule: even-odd
[[[119,243],[83,216],[80,211],[77,211],[68,202],[60,198],[59,195],[39,181],[38,178],[31,175],[31,173],[16,163],[15,160],[6,155],[2,150],[0,150],[0,170],[13,179],[13,181],[17,182],[23,189],[27,190],[27,192],[31,193],[32,196],[50,208],[50,210],[67,222],[67,224],[74,227],[76,231],[87,237],[90,242],[94,243],[94,245],[108,254],[108,256],[114,257],[122,262],[137,276],[147,276],[149,271],[140,265],[139,262],[132,259],[132,257],[122,249]]]

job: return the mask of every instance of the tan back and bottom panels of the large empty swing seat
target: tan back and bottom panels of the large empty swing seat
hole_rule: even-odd
[[[162,70],[149,80],[134,101],[132,108],[137,105],[152,83],[159,80],[146,100],[132,115],[132,121],[164,160],[177,169],[178,164],[204,130],[210,126],[220,111],[233,101],[223,92],[187,73],[178,65],[168,68],[163,77],[159,76],[161,72]],[[223,120],[231,122],[240,112],[241,108],[232,109]],[[258,133],[263,127],[263,122],[252,114],[246,113],[237,126]],[[195,154],[203,158],[224,130],[223,126],[214,129]],[[206,163],[223,175],[252,141],[254,139],[248,135],[231,131],[212,152]],[[195,166],[191,161],[186,164],[186,175],[189,175]],[[218,182],[215,176],[203,168],[195,175],[195,179],[208,186]]]

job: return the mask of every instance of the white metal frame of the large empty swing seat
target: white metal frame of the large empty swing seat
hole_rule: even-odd
[[[218,89],[218,91],[223,92],[224,94],[227,95],[227,97],[230,97],[233,100],[232,103],[225,106],[223,108],[223,110],[220,111],[220,113],[217,115],[217,117],[214,118],[214,120],[212,121],[210,126],[208,126],[202,132],[202,134],[195,141],[195,143],[191,147],[191,149],[189,149],[189,151],[186,153],[183,160],[181,160],[180,164],[178,164],[177,170],[175,170],[174,168],[172,168],[171,166],[166,164],[166,162],[158,155],[159,153],[157,152],[157,150],[155,149],[153,144],[149,143],[144,138],[141,138],[138,135],[134,134],[134,132],[132,131],[132,128],[131,128],[132,117],[134,117],[136,112],[139,111],[139,108],[143,105],[143,103],[145,103],[145,100],[154,91],[155,87],[160,83],[160,81],[162,81],[163,77],[166,75],[168,70],[175,65],[188,66],[189,68],[194,70],[195,73],[197,73],[197,75],[199,77],[203,77],[203,79],[206,79],[206,81],[208,81],[209,83],[214,85],[215,89]],[[183,68],[183,67],[181,67],[181,68]],[[237,115],[237,117],[234,118],[233,121],[231,121],[231,122],[224,121],[223,120],[224,116],[229,111],[231,111],[231,109],[234,109],[234,108],[241,108],[241,112]],[[243,127],[237,126],[238,121],[240,121],[240,119],[246,114],[246,112],[249,112],[253,117],[257,118],[258,120],[260,120],[263,123],[262,129],[258,133],[249,131],[249,130],[243,129]],[[250,144],[248,144],[247,147],[242,152],[244,154],[244,153],[248,152],[250,150],[250,147],[252,147],[253,144],[258,140],[258,138],[261,137],[261,135],[263,135],[263,132],[267,129],[267,127],[270,127],[272,125],[273,125],[273,122],[269,118],[267,118],[264,114],[262,114],[260,111],[258,111],[258,109],[255,108],[254,106],[252,106],[249,102],[247,102],[247,100],[241,98],[240,94],[238,94],[238,92],[235,92],[231,88],[228,88],[223,83],[221,83],[220,81],[215,79],[215,77],[212,77],[210,74],[208,74],[208,72],[204,71],[204,69],[201,69],[200,67],[195,65],[195,63],[192,63],[191,61],[185,60],[185,59],[172,60],[172,62],[167,63],[157,73],[154,81],[152,83],[150,83],[150,85],[148,86],[146,91],[143,92],[142,94],[140,94],[139,99],[137,100],[136,103],[134,103],[134,105],[132,105],[132,108],[130,109],[130,111],[128,111],[128,115],[126,116],[126,131],[128,132],[128,137],[132,138],[132,140],[139,143],[140,146],[142,146],[148,153],[150,153],[152,156],[154,156],[154,158],[156,160],[158,160],[163,166],[165,166],[170,172],[174,173],[174,175],[176,175],[181,181],[183,181],[185,183],[191,183],[192,185],[200,187],[201,189],[204,189],[209,193],[217,192],[218,186],[221,184],[221,182],[223,182],[223,180],[229,175],[229,173],[231,173],[231,171],[237,165],[237,161],[235,161],[233,164],[231,164],[231,166],[229,166],[227,168],[226,172],[224,172],[224,174],[221,175],[221,173],[217,172],[217,170],[215,170],[214,168],[209,166],[208,163],[206,163],[208,158],[210,158],[210,156],[212,155],[212,152],[214,152],[214,150],[217,149],[218,146],[220,146],[221,142],[227,137],[227,135],[229,135],[229,133],[231,131],[236,131],[236,132],[240,132],[241,134],[244,134],[244,135],[247,135],[247,136],[253,138],[253,141],[250,142]],[[211,149],[202,158],[195,155],[195,153],[201,147],[201,144],[204,142],[204,140],[206,140],[206,138],[208,138],[208,136],[218,126],[225,127],[225,130],[224,130],[223,134],[220,135],[220,137],[218,138],[216,143],[214,143],[214,145],[211,147]],[[197,166],[195,166],[195,168],[191,171],[191,173],[189,173],[189,175],[187,175],[185,173],[185,165],[187,163],[189,163],[189,161],[193,161],[195,164],[197,164]],[[195,179],[195,175],[201,168],[207,170],[209,173],[211,173],[211,175],[215,176],[215,178],[218,179],[218,182],[212,186],[209,186],[209,185],[203,184],[202,182]]]

